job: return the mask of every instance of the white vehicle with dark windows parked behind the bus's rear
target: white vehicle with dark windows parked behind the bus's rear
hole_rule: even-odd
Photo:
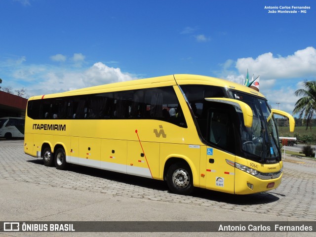
[[[0,118],[0,137],[24,137],[24,123],[25,118]]]

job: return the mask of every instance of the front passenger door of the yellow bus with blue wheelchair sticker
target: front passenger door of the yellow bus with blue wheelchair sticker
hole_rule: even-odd
[[[236,139],[233,112],[229,108],[213,107],[208,111],[206,150],[206,188],[234,193]]]

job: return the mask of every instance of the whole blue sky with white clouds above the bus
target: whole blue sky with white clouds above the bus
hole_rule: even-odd
[[[310,9],[277,13],[292,6]],[[0,0],[0,15],[1,87],[28,96],[171,74],[242,83],[248,70],[292,114],[316,79],[315,0]]]

